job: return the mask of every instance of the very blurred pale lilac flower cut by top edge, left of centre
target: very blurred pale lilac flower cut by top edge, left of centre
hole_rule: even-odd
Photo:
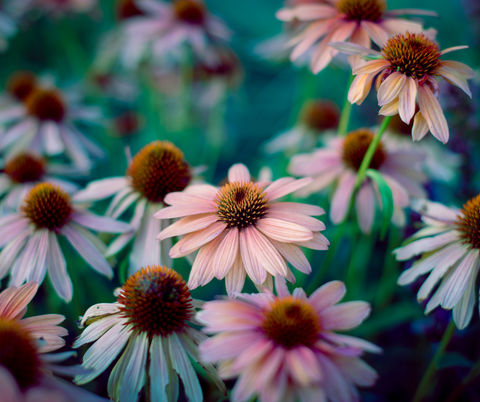
[[[122,57],[127,66],[136,66],[147,50],[154,60],[172,55],[181,59],[185,44],[203,59],[209,54],[212,42],[230,38],[230,31],[208,12],[202,0],[174,0],[171,3],[138,0],[136,4],[145,16],[125,22]]]

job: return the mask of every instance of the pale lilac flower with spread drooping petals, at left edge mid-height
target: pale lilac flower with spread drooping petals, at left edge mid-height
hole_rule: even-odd
[[[88,229],[123,233],[130,225],[95,215],[74,205],[60,187],[41,183],[25,196],[20,211],[0,218],[0,278],[10,274],[10,284],[42,283],[47,273],[57,294],[70,301],[72,281],[58,243],[65,236],[80,256],[97,272],[113,276],[103,257],[105,245]]]

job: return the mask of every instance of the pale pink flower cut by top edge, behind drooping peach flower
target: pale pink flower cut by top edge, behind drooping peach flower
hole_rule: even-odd
[[[310,66],[317,74],[338,54],[338,50],[329,47],[330,42],[348,41],[370,48],[373,41],[382,47],[389,37],[396,34],[423,31],[422,24],[398,18],[399,16],[436,15],[425,10],[387,11],[386,8],[384,0],[327,0],[283,8],[277,12],[277,18],[306,23],[302,32],[286,46],[294,46],[290,56],[292,61],[313,46]],[[359,64],[359,58],[355,56],[349,61],[352,66]]]

